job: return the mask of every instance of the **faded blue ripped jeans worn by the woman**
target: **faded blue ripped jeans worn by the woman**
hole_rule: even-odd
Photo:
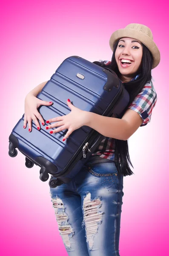
[[[84,165],[50,196],[69,256],[120,256],[123,175],[115,163]]]

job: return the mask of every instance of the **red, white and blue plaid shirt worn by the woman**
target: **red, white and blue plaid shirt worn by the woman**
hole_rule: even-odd
[[[104,64],[110,64],[111,61],[102,61]],[[139,75],[135,76],[131,81],[134,81],[138,78]],[[157,102],[157,94],[155,88],[150,83],[145,84],[140,93],[137,94],[134,101],[129,105],[128,108],[133,109],[143,119],[143,122],[140,126],[147,125],[152,116],[152,110],[155,107]],[[115,160],[115,139],[104,137],[101,141],[100,145],[97,147],[97,150],[92,154],[91,157],[99,156],[104,158],[105,160]]]

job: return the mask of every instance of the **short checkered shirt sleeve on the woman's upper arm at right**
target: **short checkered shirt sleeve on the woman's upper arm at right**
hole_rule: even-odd
[[[141,92],[135,97],[134,101],[128,107],[139,113],[143,119],[140,126],[145,126],[150,122],[152,110],[155,107],[156,102],[157,93],[151,81],[143,87]]]

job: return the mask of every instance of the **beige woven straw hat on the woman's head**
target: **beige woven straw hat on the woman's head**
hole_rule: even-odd
[[[125,27],[125,29],[118,29],[116,30],[110,37],[110,48],[113,51],[113,44],[116,40],[123,38],[123,37],[130,37],[135,38],[142,42],[152,53],[153,56],[153,64],[152,69],[157,67],[160,63],[160,51],[153,41],[152,31],[149,29],[149,27],[137,24],[137,23],[131,23]]]

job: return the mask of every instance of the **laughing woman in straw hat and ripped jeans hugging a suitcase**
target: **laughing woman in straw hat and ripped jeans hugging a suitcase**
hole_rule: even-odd
[[[129,24],[115,31],[109,41],[112,61],[95,61],[115,71],[130,95],[121,118],[100,116],[76,108],[68,99],[71,112],[46,121],[50,133],[68,129],[63,141],[83,125],[104,135],[89,161],[70,183],[50,189],[55,215],[69,256],[119,256],[120,216],[123,204],[123,176],[132,175],[127,140],[150,122],[157,94],[151,70],[160,62],[160,52],[151,30],[142,24]],[[32,119],[44,120],[37,108],[52,102],[37,99],[43,86],[35,87],[25,99],[24,128]],[[58,127],[58,128],[57,128]],[[57,254],[57,245],[56,245]]]

